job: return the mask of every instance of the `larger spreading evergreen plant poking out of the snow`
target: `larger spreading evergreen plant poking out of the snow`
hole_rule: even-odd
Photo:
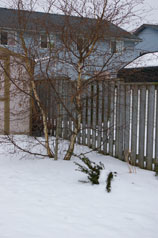
[[[90,161],[90,159],[84,155],[77,157],[84,163],[84,165],[74,162],[75,165],[78,166],[78,169],[76,170],[87,174],[88,180],[92,184],[99,184],[100,171],[104,169],[104,164],[101,162],[96,164],[95,162]]]

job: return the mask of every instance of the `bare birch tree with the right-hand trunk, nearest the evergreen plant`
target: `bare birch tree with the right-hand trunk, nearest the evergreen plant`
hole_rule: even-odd
[[[76,94],[73,99],[76,102],[77,119],[74,121],[75,128],[65,160],[70,160],[77,134],[81,129],[82,92],[103,73],[115,74],[125,64],[125,49],[119,52],[115,43],[118,41],[121,44],[122,38],[128,33],[112,23],[119,25],[127,22],[134,16],[134,6],[134,1],[121,0],[69,2],[61,0],[56,5],[65,15],[64,24],[57,25],[63,51],[63,54],[58,55],[58,70],[64,71],[63,74],[76,81]],[[103,45],[106,40],[109,40],[107,47]],[[132,54],[130,57],[132,59]]]

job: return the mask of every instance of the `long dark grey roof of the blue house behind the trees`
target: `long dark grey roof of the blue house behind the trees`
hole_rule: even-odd
[[[20,15],[20,17],[19,17]],[[21,20],[21,24],[20,21]],[[86,20],[86,24],[85,24]],[[43,12],[18,11],[16,9],[0,8],[0,28],[24,29],[27,31],[45,31],[46,28],[56,30],[64,27],[65,23],[71,23],[75,28],[93,27],[97,21],[92,18],[81,18],[76,16],[65,16],[59,14],[48,14]],[[105,21],[100,25],[101,30],[108,37],[122,37],[139,41],[140,39],[123,30],[122,28]],[[85,26],[86,25],[86,26]],[[24,27],[25,26],[25,27]]]

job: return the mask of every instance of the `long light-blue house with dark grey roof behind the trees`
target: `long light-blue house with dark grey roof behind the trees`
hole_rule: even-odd
[[[63,57],[67,54],[67,52],[62,53],[64,47],[60,44],[61,38],[64,32],[68,35],[73,32],[71,34],[73,39],[69,39],[71,41],[69,45],[72,45],[78,52],[81,47],[84,47],[85,50],[89,45],[92,34],[94,34],[95,24],[95,19],[0,8],[0,45],[23,54],[20,40],[22,35],[30,58],[46,58],[48,55],[50,56],[50,50],[54,51],[54,55],[58,57],[58,60],[56,60],[58,62],[54,63],[53,71],[56,74],[74,78],[75,72],[73,67],[70,67],[70,58],[72,57],[71,60],[73,59],[74,64],[76,56],[74,56],[75,54],[69,55],[69,59],[65,59],[67,63],[61,63]],[[69,28],[69,32],[65,31],[67,28]],[[95,62],[95,66],[93,68],[89,67],[85,78],[88,77],[87,75],[92,75],[100,70],[105,61],[108,61],[108,64],[104,70],[116,74],[118,69],[132,61],[139,54],[135,46],[140,42],[140,39],[120,27],[104,21],[99,25],[99,34],[102,36],[98,41],[96,52],[97,54],[99,52],[100,55],[96,57],[96,53],[94,53],[89,57],[93,64]],[[85,38],[88,38],[88,42],[85,41]]]

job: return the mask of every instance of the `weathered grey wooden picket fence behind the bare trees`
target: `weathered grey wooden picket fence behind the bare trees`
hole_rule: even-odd
[[[38,92],[47,112],[49,134],[55,136],[58,121],[59,136],[69,139],[78,110],[74,83],[58,80],[50,87],[41,81]],[[83,87],[81,108],[77,143],[121,160],[124,151],[129,150],[133,164],[149,170],[157,168],[158,85],[94,81]],[[34,115],[37,120],[33,119],[33,134],[42,135],[40,115]]]

